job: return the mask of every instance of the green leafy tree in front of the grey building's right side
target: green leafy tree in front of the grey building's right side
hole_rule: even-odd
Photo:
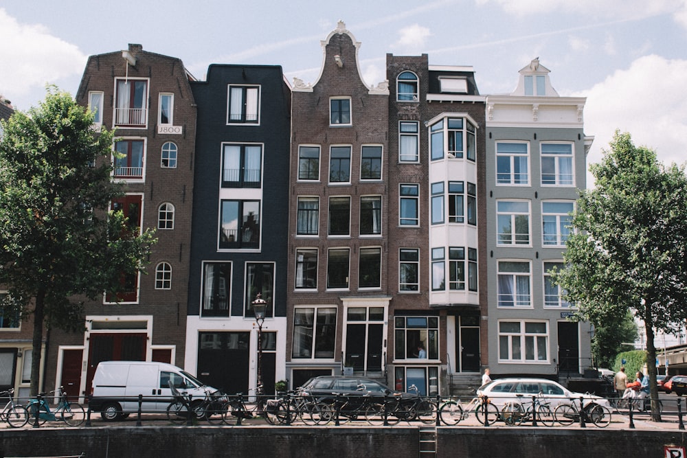
[[[671,332],[687,308],[687,178],[665,168],[653,150],[619,133],[590,167],[596,188],[585,190],[564,253],[567,268],[555,281],[581,318],[613,323],[631,310],[644,321],[647,360],[654,361],[655,330]],[[648,365],[651,398],[658,398],[656,367]],[[660,421],[657,405],[652,415]]]

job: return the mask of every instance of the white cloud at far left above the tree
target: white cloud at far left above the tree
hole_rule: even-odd
[[[43,25],[21,24],[1,8],[0,56],[4,63],[0,71],[0,93],[15,105],[17,98],[32,91],[45,92],[47,83],[80,75],[87,60],[76,45],[52,36]]]

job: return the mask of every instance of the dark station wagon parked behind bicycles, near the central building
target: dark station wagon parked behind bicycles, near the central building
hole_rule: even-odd
[[[313,377],[301,387],[304,396],[313,398],[326,403],[334,401],[336,394],[350,398],[359,398],[370,393],[375,402],[383,402],[385,396],[393,396],[401,393],[387,387],[383,383],[356,376],[319,376]],[[401,393],[401,396],[413,396],[409,393]],[[362,402],[362,400],[361,400]],[[357,404],[353,402],[353,404]]]

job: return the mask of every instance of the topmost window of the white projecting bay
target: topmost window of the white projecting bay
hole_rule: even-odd
[[[475,134],[475,125],[467,118],[448,117],[432,124],[429,127],[431,160],[465,157],[469,161],[475,161]]]

